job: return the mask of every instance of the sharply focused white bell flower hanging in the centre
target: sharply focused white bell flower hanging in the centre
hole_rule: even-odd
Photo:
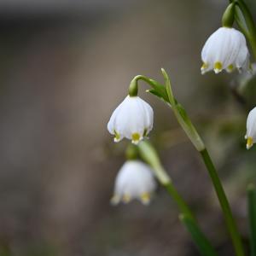
[[[126,96],[108,121],[108,131],[118,143],[124,137],[139,143],[153,128],[154,113],[147,102],[139,96]]]

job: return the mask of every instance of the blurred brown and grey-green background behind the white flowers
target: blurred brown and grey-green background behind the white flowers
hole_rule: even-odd
[[[256,147],[247,151],[244,135],[255,79],[200,73],[227,3],[0,1],[1,256],[198,255],[164,189],[148,207],[109,204],[127,142],[113,143],[108,119],[131,79],[161,82],[160,67],[207,144],[247,245]],[[154,108],[150,138],[164,166],[219,255],[233,255],[200,156],[147,89],[142,82],[139,93]]]

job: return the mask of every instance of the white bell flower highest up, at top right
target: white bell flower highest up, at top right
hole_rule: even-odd
[[[232,72],[234,68],[248,70],[249,52],[244,35],[231,27],[220,27],[213,32],[201,51],[203,65],[201,73],[214,70],[215,73],[225,69]]]

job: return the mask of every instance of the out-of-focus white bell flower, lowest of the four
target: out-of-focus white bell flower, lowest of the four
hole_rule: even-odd
[[[156,183],[150,166],[140,160],[127,160],[115,179],[111,203],[116,205],[119,201],[128,203],[132,199],[138,199],[148,205],[155,188]]]

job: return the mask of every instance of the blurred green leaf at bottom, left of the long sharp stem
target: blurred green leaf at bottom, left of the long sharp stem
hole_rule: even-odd
[[[197,224],[195,224],[195,221],[193,219],[189,218],[185,214],[180,214],[179,219],[182,221],[186,229],[189,231],[201,255],[217,256],[217,253],[212,247],[210,241],[208,241],[207,237],[204,236],[204,234],[198,228]]]

